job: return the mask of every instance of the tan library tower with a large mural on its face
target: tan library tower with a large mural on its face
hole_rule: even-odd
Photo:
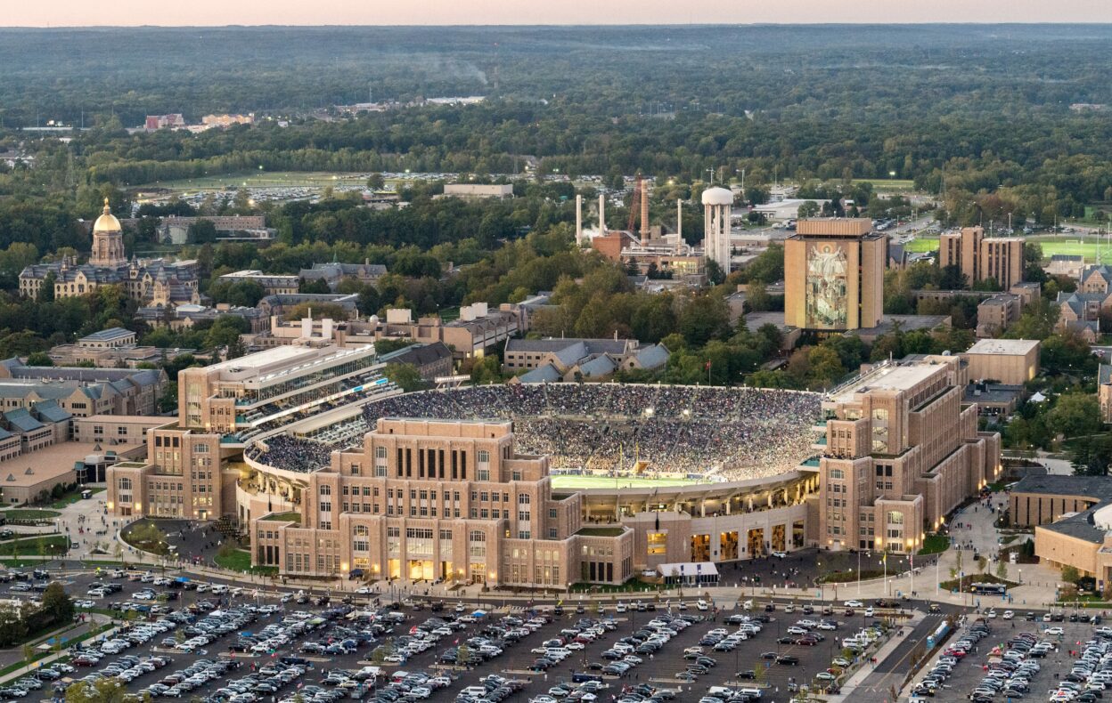
[[[867,218],[801,220],[784,242],[784,323],[845,332],[884,313],[887,237]]]

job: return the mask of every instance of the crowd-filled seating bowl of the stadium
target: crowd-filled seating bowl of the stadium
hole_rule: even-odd
[[[751,388],[617,383],[484,385],[396,395],[361,416],[316,432],[278,435],[250,448],[276,469],[311,472],[358,443],[379,418],[513,420],[517,445],[547,454],[555,471],[651,473],[738,481],[788,471],[814,453],[821,395]]]

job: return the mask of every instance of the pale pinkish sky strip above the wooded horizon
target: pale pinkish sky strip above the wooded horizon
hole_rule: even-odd
[[[1112,22],[1110,0],[49,0],[6,27]]]

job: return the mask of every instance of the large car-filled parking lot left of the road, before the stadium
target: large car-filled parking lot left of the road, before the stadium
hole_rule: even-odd
[[[553,604],[492,610],[474,601],[376,603],[373,595],[348,596],[345,603],[158,573],[105,571],[60,580],[81,606],[121,619],[133,611],[128,617],[135,621],[117,636],[72,649],[63,665],[44,665],[41,689],[26,679],[6,684],[9,699],[23,697],[19,686],[30,689],[23,695],[44,697],[53,686],[115,677],[130,694],[197,696],[206,703],[292,701],[296,693],[311,703],[612,695],[695,701],[723,685],[763,687],[763,700],[783,701],[798,684],[828,685],[815,676],[833,679],[826,672],[844,640],[876,623],[864,607],[853,614],[844,606],[824,613],[821,606],[805,612],[797,605],[785,612],[781,603],[766,612],[764,602],[752,604],[751,612],[735,603],[719,603],[717,612],[711,604],[699,610],[695,600],[683,610],[671,603],[671,612],[632,602],[608,603],[600,613],[592,604],[583,612]],[[28,578],[0,587],[29,597],[46,582]],[[397,672],[403,672],[399,683],[388,683]],[[559,687],[576,673],[598,681]],[[641,693],[631,691],[634,686]],[[719,691],[707,703],[712,700],[746,699]]]

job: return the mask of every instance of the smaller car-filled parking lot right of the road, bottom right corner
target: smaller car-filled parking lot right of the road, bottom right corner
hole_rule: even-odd
[[[1112,686],[1112,630],[1090,622],[1093,614],[1003,609],[970,614],[915,676],[913,700],[1096,701],[1105,684]],[[1089,653],[1088,642],[1095,647]],[[1084,675],[1079,675],[1082,671],[1074,662],[1083,656],[1093,664],[1084,665]],[[1101,673],[1105,663],[1106,675]],[[939,671],[941,676],[934,674]],[[932,679],[933,692],[923,683]],[[1063,682],[1078,691],[1052,694]],[[1086,687],[1096,691],[1085,694]]]

